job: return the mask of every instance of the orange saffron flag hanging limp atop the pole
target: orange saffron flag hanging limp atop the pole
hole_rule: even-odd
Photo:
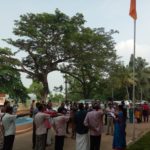
[[[136,0],[131,0],[129,15],[130,15],[134,20],[137,19]]]

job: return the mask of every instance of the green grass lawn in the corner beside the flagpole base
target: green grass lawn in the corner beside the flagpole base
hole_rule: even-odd
[[[129,146],[127,150],[150,150],[150,132],[144,135],[133,145]]]

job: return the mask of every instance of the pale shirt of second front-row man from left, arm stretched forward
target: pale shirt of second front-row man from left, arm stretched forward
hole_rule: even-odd
[[[36,135],[46,134],[47,127],[45,125],[45,120],[49,118],[50,118],[49,115],[42,113],[42,112],[38,112],[35,115],[34,121],[36,125]]]

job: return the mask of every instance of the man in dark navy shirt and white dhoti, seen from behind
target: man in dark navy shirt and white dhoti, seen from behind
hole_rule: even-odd
[[[79,104],[79,111],[75,113],[75,130],[76,130],[76,150],[89,149],[88,127],[84,125],[84,119],[87,111],[84,110],[83,103]]]

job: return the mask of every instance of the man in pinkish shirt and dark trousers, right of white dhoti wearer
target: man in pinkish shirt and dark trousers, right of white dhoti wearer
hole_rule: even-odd
[[[98,103],[95,103],[93,110],[87,113],[84,125],[90,130],[90,150],[100,150],[103,111],[100,109]]]

